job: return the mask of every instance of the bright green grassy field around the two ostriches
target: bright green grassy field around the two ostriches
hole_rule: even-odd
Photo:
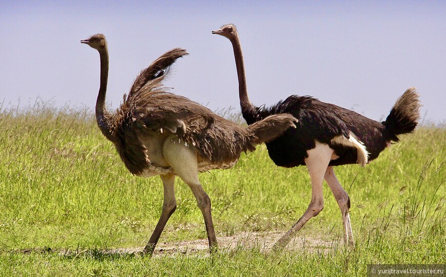
[[[296,239],[304,247],[271,252],[240,243],[212,256],[150,258],[123,249],[147,243],[163,201],[159,177],[132,176],[91,112],[45,104],[2,109],[0,276],[364,276],[367,264],[444,264],[446,128],[422,126],[401,138],[365,168],[335,169],[350,188],[353,250],[342,245],[340,212],[324,184],[325,208]],[[217,240],[280,235],[311,196],[306,168],[276,167],[265,146],[230,170],[201,173],[200,181]],[[159,244],[206,238],[195,199],[178,179],[176,194]]]

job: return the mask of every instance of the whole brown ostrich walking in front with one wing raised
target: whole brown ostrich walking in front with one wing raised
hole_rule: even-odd
[[[115,113],[105,109],[108,51],[104,35],[81,41],[99,52],[101,73],[96,102],[99,129],[116,147],[129,171],[139,176],[160,175],[165,200],[160,220],[144,252],[152,253],[161,231],[176,208],[173,189],[177,175],[192,189],[203,213],[209,245],[216,245],[211,204],[199,184],[197,171],[229,168],[241,152],[270,141],[294,126],[290,114],[265,118],[248,128],[226,120],[186,97],[166,91],[162,81],[168,67],[186,50],[175,48],[161,55],[136,77]]]

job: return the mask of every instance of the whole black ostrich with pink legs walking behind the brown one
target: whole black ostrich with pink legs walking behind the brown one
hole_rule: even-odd
[[[212,33],[225,36],[232,43],[241,113],[248,125],[276,113],[291,113],[298,119],[297,128],[288,129],[266,145],[277,166],[307,166],[311,177],[311,202],[302,217],[276,242],[274,248],[288,244],[292,235],[322,210],[324,179],[341,210],[344,243],[353,247],[349,216],[350,197],[339,184],[333,166],[356,163],[364,166],[376,159],[392,141],[398,142],[398,135],[413,132],[418,124],[421,106],[416,89],[406,90],[383,122],[376,122],[354,111],[320,102],[311,96],[291,95],[270,108],[256,107],[248,97],[245,65],[235,26],[224,25]]]

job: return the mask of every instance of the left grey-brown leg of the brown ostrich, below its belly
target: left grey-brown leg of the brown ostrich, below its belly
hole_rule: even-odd
[[[176,200],[175,200],[175,188],[174,181],[175,175],[159,175],[161,180],[163,181],[164,186],[164,202],[163,202],[163,210],[161,211],[161,216],[159,217],[158,224],[156,224],[155,230],[150,237],[149,242],[143,250],[144,254],[151,255],[153,250],[155,249],[156,244],[158,243],[159,236],[161,232],[163,232],[164,227],[166,226],[167,221],[170,216],[176,209]]]

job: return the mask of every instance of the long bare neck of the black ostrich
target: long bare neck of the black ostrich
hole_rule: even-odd
[[[245,62],[243,61],[243,52],[241,51],[238,36],[230,39],[234,49],[235,66],[237,68],[238,77],[238,97],[240,98],[241,113],[248,124],[255,122],[255,107],[252,105],[248,97],[248,89],[246,85]]]

